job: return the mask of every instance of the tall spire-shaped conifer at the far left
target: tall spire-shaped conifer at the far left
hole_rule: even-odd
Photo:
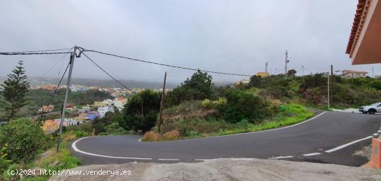
[[[29,83],[26,81],[23,62],[19,61],[19,65],[12,70],[12,74],[8,74],[8,79],[1,85],[1,91],[6,99],[6,112],[8,118],[12,119],[21,107],[28,103],[26,93],[29,89]]]

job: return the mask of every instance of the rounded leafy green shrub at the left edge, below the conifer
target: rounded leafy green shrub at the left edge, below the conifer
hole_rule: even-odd
[[[7,146],[8,159],[28,162],[48,145],[47,137],[30,119],[15,119],[0,127],[0,146]]]

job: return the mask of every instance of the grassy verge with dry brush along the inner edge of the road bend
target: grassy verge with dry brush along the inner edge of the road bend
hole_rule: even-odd
[[[175,137],[175,139],[188,139],[254,132],[292,125],[305,121],[314,115],[313,112],[308,111],[300,104],[288,103],[287,105],[276,105],[276,103],[272,103],[272,109],[274,109],[272,116],[268,116],[265,119],[248,119],[248,117],[251,116],[249,114],[248,117],[242,118],[240,121],[232,122],[224,119],[224,115],[219,114],[218,110],[202,105],[201,102],[204,101],[184,103],[184,105],[193,104],[194,106],[190,107],[197,108],[184,110],[181,108],[184,107],[184,105],[181,104],[176,107],[171,107],[170,112],[166,111],[163,115],[166,121],[161,128],[164,134],[177,130],[179,131],[179,137]],[[161,139],[159,135],[153,135],[153,133],[154,132],[150,132],[149,135],[145,135],[143,140],[168,140]],[[157,137],[157,139],[155,139],[155,137]]]

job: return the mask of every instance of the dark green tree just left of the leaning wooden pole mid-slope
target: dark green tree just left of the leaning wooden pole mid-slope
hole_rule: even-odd
[[[150,89],[134,95],[123,109],[123,119],[119,125],[125,130],[150,130],[157,121],[160,108],[160,94]]]

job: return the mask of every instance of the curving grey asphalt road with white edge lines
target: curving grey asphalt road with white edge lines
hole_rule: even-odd
[[[87,137],[74,141],[72,147],[85,165],[232,157],[360,166],[366,159],[353,153],[369,145],[380,126],[380,115],[324,112],[296,126],[264,132],[163,142],[141,142],[139,135]],[[343,147],[353,141],[358,142]]]

